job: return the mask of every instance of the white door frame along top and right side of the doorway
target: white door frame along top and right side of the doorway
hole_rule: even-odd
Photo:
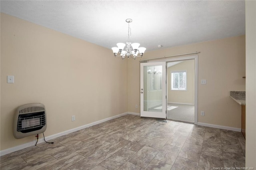
[[[181,61],[194,59],[195,61],[195,81],[194,81],[194,105],[195,105],[195,113],[194,113],[194,124],[198,123],[198,55],[186,56],[186,57],[173,57],[173,58],[164,58],[159,60],[148,60],[148,62],[170,62],[170,61]]]

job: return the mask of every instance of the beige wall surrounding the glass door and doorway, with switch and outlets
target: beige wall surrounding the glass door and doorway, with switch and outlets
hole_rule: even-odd
[[[198,53],[198,122],[241,128],[241,106],[229,91],[245,91],[245,36],[148,51],[142,59]],[[128,61],[128,111],[140,113],[139,59]],[[200,80],[207,84],[201,85]],[[205,111],[205,116],[200,116]]]

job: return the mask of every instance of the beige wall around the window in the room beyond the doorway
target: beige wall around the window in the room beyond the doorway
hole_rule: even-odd
[[[167,69],[167,99],[168,103],[187,103],[194,105],[194,59],[186,60]],[[187,90],[171,90],[171,71],[186,70]]]

